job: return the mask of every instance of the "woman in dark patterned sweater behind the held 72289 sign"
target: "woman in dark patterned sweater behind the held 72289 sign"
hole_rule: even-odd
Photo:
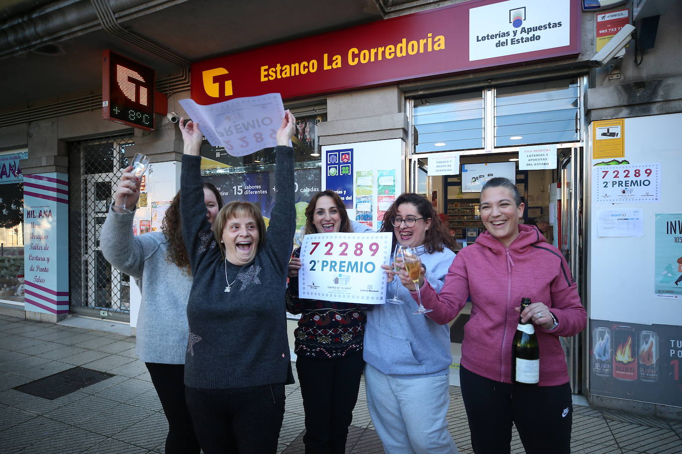
[[[322,191],[306,208],[306,233],[352,232],[341,198]],[[306,411],[306,453],[344,453],[360,375],[366,308],[359,304],[298,297],[298,258],[289,265],[286,310],[301,314],[294,331],[296,370]]]

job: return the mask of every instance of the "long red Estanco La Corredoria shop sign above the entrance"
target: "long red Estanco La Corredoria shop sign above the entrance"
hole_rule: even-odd
[[[580,1],[475,0],[192,63],[200,104],[284,99],[580,54]]]

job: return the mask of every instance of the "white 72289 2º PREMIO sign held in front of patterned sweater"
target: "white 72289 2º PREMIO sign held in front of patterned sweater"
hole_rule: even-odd
[[[393,234],[313,233],[303,237],[299,297],[384,304]]]

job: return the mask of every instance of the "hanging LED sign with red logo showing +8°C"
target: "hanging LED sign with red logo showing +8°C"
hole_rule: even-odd
[[[102,54],[102,118],[154,129],[154,70],[110,50]]]

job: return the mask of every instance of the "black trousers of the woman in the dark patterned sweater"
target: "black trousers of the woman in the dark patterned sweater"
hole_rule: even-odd
[[[335,359],[308,359],[299,355],[296,370],[306,412],[306,454],[343,454],[348,427],[353,421],[362,353]]]

